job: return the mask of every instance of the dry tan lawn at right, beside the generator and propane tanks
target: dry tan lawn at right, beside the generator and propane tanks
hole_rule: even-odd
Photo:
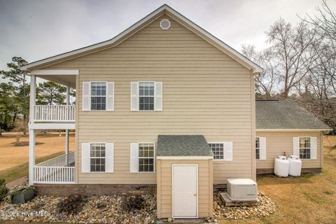
[[[220,223],[336,223],[336,148],[324,147],[321,174],[305,174],[298,178],[267,175],[258,177],[257,183],[258,190],[276,204],[276,212],[265,218]]]

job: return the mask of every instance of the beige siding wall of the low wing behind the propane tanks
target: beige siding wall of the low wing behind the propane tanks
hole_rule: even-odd
[[[302,160],[302,168],[321,168],[320,132],[257,132],[257,137],[266,137],[266,160],[257,160],[257,169],[274,169],[274,158],[286,152],[293,155],[293,137],[316,137],[317,160]]]

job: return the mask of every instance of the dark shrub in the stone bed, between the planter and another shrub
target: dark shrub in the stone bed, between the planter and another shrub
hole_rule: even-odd
[[[85,197],[83,195],[70,195],[58,203],[58,212],[65,214],[77,214],[83,207]]]

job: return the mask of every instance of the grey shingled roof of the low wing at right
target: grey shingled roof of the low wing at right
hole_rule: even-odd
[[[331,130],[312,113],[290,99],[256,100],[255,129]]]

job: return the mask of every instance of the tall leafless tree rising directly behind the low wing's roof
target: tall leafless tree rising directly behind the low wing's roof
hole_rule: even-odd
[[[278,62],[281,97],[288,98],[292,90],[309,73],[316,60],[316,52],[311,50],[316,40],[316,30],[309,29],[306,22],[296,27],[279,19],[267,31],[269,50]]]

